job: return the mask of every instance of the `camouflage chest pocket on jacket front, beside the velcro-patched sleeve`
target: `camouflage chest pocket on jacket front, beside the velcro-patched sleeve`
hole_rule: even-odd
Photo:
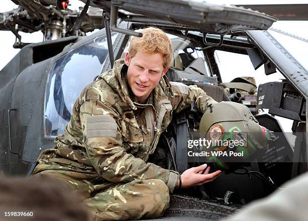
[[[139,150],[140,143],[143,141],[141,130],[135,119],[121,122],[121,134],[123,147],[127,153],[135,153]]]

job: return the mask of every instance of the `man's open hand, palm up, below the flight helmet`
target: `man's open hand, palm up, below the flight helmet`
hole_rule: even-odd
[[[203,164],[198,167],[192,167],[188,170],[185,170],[184,173],[181,175],[181,181],[182,186],[181,188],[188,188],[191,186],[198,186],[202,185],[204,183],[208,183],[216,179],[219,174],[221,173],[221,170],[217,170],[213,173],[208,173],[210,170],[210,167],[206,168],[206,164]],[[203,170],[206,168],[204,174],[202,174]],[[179,186],[180,181],[178,180],[177,186]]]

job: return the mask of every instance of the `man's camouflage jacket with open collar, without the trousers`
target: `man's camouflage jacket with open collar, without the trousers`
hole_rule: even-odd
[[[178,172],[146,163],[149,154],[155,151],[172,113],[182,111],[194,99],[204,113],[207,105],[216,101],[196,86],[169,82],[164,76],[147,104],[139,104],[127,87],[126,71],[124,60],[117,60],[112,70],[85,87],[74,103],[64,134],[55,139],[53,149],[41,153],[38,162],[94,167],[103,180],[112,183],[161,179],[172,192]],[[38,166],[34,172],[44,168],[56,167]],[[62,170],[74,171],[72,168],[61,166]]]

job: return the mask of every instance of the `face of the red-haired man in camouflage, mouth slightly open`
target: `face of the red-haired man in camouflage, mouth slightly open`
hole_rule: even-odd
[[[132,58],[126,53],[125,64],[128,66],[128,85],[140,103],[147,99],[169,68],[163,67],[162,54],[146,54],[140,51]]]

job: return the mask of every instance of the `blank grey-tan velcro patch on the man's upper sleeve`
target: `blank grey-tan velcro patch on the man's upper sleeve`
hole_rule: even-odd
[[[105,115],[87,118],[87,137],[113,137],[117,134],[117,123],[113,117]]]

